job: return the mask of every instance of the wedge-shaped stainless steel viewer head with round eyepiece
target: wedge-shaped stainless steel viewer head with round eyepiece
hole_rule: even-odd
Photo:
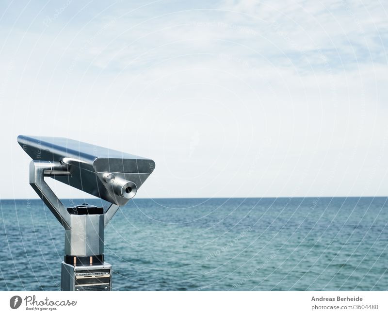
[[[69,173],[47,176],[118,206],[135,196],[155,168],[150,159],[67,138],[19,135],[17,142],[32,160],[60,162]]]

